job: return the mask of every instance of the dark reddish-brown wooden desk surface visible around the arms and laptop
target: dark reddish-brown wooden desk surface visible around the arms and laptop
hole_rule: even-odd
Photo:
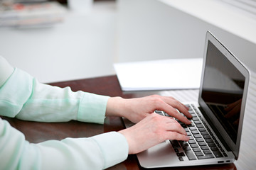
[[[123,93],[120,89],[116,76],[98,77],[92,79],[80,79],[74,81],[63,81],[51,83],[53,86],[70,86],[73,91],[87,91],[94,94],[102,94],[107,96],[122,96],[123,98],[133,98],[158,94],[159,91]],[[81,123],[78,121],[70,121],[68,123],[36,123],[16,118],[4,118],[11,125],[23,132],[26,140],[33,143],[43,142],[46,140],[62,140],[65,137],[90,137],[104,132],[118,131],[124,128],[122,119],[119,117],[107,117],[104,125],[92,123]],[[110,169],[142,169],[139,166],[136,155],[129,155],[128,159]],[[166,169],[236,169],[235,164],[212,165],[212,166],[193,166]]]

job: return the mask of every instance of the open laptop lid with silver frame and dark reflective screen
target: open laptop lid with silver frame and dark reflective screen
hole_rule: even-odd
[[[210,32],[203,59],[199,105],[226,149],[238,159],[250,72]]]

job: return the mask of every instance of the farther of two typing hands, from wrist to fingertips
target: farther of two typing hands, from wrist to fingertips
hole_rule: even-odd
[[[154,113],[155,110],[164,111],[181,122],[190,124],[187,118],[191,118],[188,108],[181,102],[176,101],[173,97],[165,97],[159,95],[146,96],[142,98],[124,99],[121,97],[110,98],[107,102],[106,115],[122,116],[138,123],[146,118],[147,115]],[[185,116],[183,116],[181,113]]]

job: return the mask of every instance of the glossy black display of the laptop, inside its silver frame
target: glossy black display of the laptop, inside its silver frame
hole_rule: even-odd
[[[245,77],[210,41],[203,79],[203,101],[236,143]]]

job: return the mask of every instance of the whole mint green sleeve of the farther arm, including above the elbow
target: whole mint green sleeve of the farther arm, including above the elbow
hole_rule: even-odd
[[[41,84],[21,69],[14,69],[0,89],[0,115],[42,122],[104,123],[108,98]]]

